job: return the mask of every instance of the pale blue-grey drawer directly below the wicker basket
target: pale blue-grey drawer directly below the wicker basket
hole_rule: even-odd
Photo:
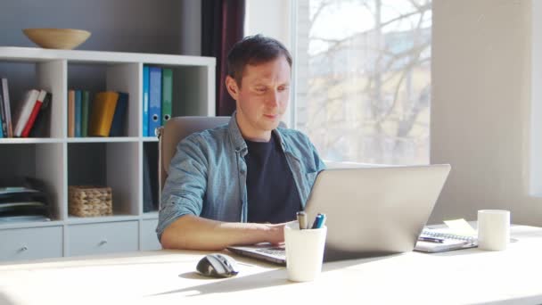
[[[137,221],[71,225],[68,255],[137,251]]]

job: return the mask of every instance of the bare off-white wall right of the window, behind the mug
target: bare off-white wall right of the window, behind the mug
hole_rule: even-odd
[[[506,209],[542,225],[529,189],[530,13],[527,0],[433,1],[431,163],[452,171],[431,222]]]

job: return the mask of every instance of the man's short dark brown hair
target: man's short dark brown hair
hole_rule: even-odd
[[[247,65],[271,62],[280,56],[292,67],[292,55],[278,40],[261,34],[244,37],[227,54],[227,74],[241,87],[242,71]]]

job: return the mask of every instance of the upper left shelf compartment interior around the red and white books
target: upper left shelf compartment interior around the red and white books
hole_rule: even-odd
[[[0,75],[8,79],[12,120],[21,107],[21,100],[29,89],[44,89],[53,95],[45,115],[45,129],[40,137],[63,137],[63,110],[66,91],[66,61],[0,62]],[[14,125],[13,125],[14,128]]]

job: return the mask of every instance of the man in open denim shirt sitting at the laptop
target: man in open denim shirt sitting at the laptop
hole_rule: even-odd
[[[284,223],[324,169],[307,136],[278,128],[289,100],[288,50],[257,35],[237,42],[227,60],[236,111],[228,125],[177,145],[156,229],[166,249],[283,242]]]

